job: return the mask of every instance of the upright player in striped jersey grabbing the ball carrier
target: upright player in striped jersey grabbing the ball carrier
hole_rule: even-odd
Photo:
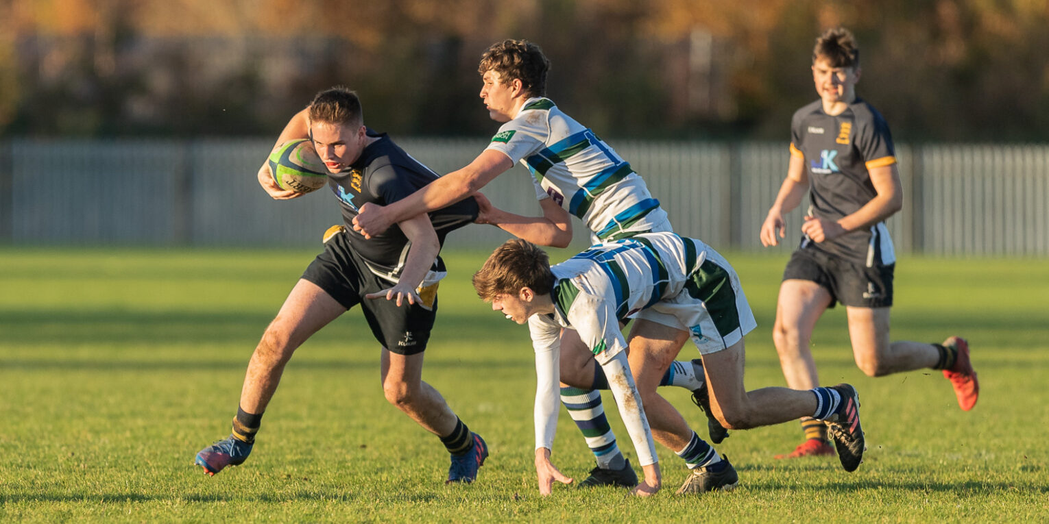
[[[550,62],[539,47],[523,40],[497,42],[485,51],[478,72],[484,85],[480,97],[489,116],[502,123],[498,133],[470,165],[442,176],[414,195],[382,206],[366,204],[354,219],[354,226],[365,237],[380,234],[398,220],[421,212],[441,209],[456,202],[519,161],[533,174],[536,198],[542,217],[501,214],[489,216],[512,235],[529,241],[564,247],[572,240],[570,215],[581,219],[593,238],[612,240],[646,232],[670,232],[666,212],[648,193],[645,181],[616,151],[544,96]],[[480,199],[480,197],[478,197]],[[636,322],[631,332],[648,341],[646,350],[654,354],[677,354],[687,333],[672,332],[663,326]],[[641,336],[643,335],[643,336]],[[665,361],[659,369],[647,369],[639,380],[666,383],[672,370],[690,380],[693,400],[708,416],[708,429],[714,442],[727,436],[707,403],[705,378],[699,362]],[[683,372],[683,373],[682,373]],[[624,485],[637,483],[629,463],[616,444],[615,435],[604,418],[601,395],[597,391],[606,381],[593,354],[572,332],[562,345],[561,375],[566,383],[562,400],[597,460],[597,467],[581,485]],[[691,375],[694,378],[689,378]],[[582,387],[572,388],[569,384]],[[681,415],[669,407],[668,416]],[[649,413],[651,416],[651,413]],[[649,420],[654,427],[658,421]],[[676,447],[683,451],[687,441]]]

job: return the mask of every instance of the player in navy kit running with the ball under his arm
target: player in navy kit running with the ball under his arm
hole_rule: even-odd
[[[382,345],[386,399],[441,438],[451,454],[447,482],[472,482],[488,457],[488,446],[422,380],[422,371],[423,351],[437,311],[437,284],[445,277],[438,253],[445,235],[476,218],[476,202],[465,199],[432,216],[406,217],[365,241],[349,227],[362,204],[398,201],[437,175],[385,133],[366,128],[357,94],[345,88],[317,94],[309,107],[292,117],[277,144],[296,138],[311,138],[327,167],[328,187],[339,200],[346,226],[328,230],[324,252],[306,268],[262,334],[248,365],[232,434],[201,450],[195,463],[209,475],[242,463],[296,348],[360,305]],[[302,195],[277,187],[266,163],[258,180],[275,199]]]

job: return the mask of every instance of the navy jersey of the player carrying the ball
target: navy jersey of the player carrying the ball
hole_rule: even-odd
[[[354,217],[367,202],[387,205],[411,195],[437,179],[437,174],[414,159],[390,139],[386,133],[368,129],[367,135],[379,138],[364,148],[360,158],[338,174],[328,173],[328,188],[335,193],[342,208],[349,244],[377,275],[393,279],[400,277],[408,254],[408,238],[393,224],[382,235],[365,240],[354,231]],[[430,213],[430,221],[443,246],[448,233],[477,218],[477,202],[473,197]],[[444,270],[438,258],[436,270]]]

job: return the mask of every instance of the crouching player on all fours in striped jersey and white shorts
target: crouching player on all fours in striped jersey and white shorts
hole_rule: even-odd
[[[570,331],[562,328],[574,328],[602,367],[608,367],[614,359],[623,361],[628,346],[645,343],[634,333],[623,340],[619,323],[631,315],[691,337],[707,370],[711,408],[726,427],[748,429],[813,416],[830,423],[847,471],[854,471],[862,461],[859,397],[852,386],[746,391],[744,335],[754,328],[754,318],[732,266],[699,240],[673,233],[639,234],[593,245],[553,267],[539,247],[520,239],[509,240],[474,275],[473,286],[481,300],[491,302],[493,310],[518,324],[529,324],[538,375],[535,464],[540,493],[550,493],[553,480],[565,482],[550,461],[557,427],[561,339]],[[628,384],[630,370],[651,366],[652,356],[631,348],[628,365],[621,366],[619,373],[609,373],[609,381]],[[641,445],[637,434],[643,420],[631,418],[631,412],[636,409],[644,417],[644,410],[655,407],[650,400],[662,398],[651,385],[645,388],[639,384],[638,389],[643,407],[625,402],[619,395],[617,401],[647,480],[647,467],[656,458]],[[661,403],[672,410],[665,400]],[[648,413],[649,420],[657,419]],[[683,420],[662,429],[654,421],[652,434],[664,443],[682,443],[684,452],[679,455],[690,466],[694,464],[679,494],[728,490],[738,482],[728,458],[699,440]],[[650,439],[648,442],[650,446]]]

